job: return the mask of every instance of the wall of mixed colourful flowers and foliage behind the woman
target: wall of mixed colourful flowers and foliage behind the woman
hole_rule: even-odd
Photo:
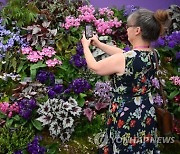
[[[138,8],[95,8],[84,0],[8,1],[0,17],[0,153],[63,153],[63,148],[67,153],[71,152],[68,148],[76,147],[75,143],[78,148],[83,144],[76,141],[82,136],[88,136],[90,148],[83,145],[77,153],[97,150],[90,136],[103,131],[113,97],[111,76],[98,76],[87,68],[80,42],[82,33],[85,25],[91,24],[100,41],[129,51],[127,17]],[[177,27],[152,44],[159,52],[160,77],[168,110],[176,118],[176,136],[180,132],[179,44]],[[96,47],[90,48],[97,61],[108,56]],[[132,50],[125,56],[136,55]],[[162,106],[159,89],[155,76],[150,101]],[[136,104],[139,98],[135,98]],[[116,103],[111,110],[115,109]],[[134,114],[139,118],[139,113],[136,110]],[[147,118],[146,123],[150,120]],[[130,127],[134,124],[130,121]],[[123,125],[119,120],[118,127]],[[71,139],[73,142],[67,142]],[[68,146],[71,143],[73,146]]]

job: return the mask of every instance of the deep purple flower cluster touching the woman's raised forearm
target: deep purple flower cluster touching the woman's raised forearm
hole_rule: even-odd
[[[82,44],[78,43],[76,46],[76,54],[71,57],[70,63],[78,68],[87,66],[86,60],[83,55],[84,54]]]

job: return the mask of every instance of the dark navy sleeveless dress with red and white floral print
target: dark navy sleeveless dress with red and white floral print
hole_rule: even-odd
[[[151,79],[156,72],[153,52],[125,52],[123,75],[114,74],[113,100],[106,131],[99,146],[101,154],[159,154],[157,123]]]

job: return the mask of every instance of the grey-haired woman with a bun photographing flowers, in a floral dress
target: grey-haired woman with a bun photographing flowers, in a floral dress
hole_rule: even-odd
[[[88,67],[99,75],[113,76],[113,102],[99,153],[159,153],[151,96],[156,65],[150,44],[164,32],[169,21],[165,10],[139,9],[132,13],[127,19],[128,40],[132,44],[128,52],[101,43],[96,36],[87,40],[83,35],[81,42]],[[97,62],[90,52],[90,44],[111,56]]]

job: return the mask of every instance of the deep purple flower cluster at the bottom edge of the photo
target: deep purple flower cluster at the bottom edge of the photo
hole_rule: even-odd
[[[35,136],[33,141],[28,144],[27,151],[34,154],[45,154],[46,149],[40,146],[40,140],[42,140],[42,137]]]

